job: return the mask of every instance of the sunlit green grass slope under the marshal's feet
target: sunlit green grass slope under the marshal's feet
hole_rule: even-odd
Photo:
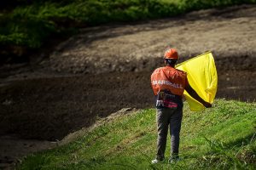
[[[115,118],[70,144],[27,156],[18,169],[255,169],[256,104],[217,99],[211,109],[184,105],[182,161],[151,165],[154,109]],[[166,156],[170,153],[168,139]]]

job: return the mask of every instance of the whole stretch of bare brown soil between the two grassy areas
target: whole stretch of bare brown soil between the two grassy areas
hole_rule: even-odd
[[[98,117],[127,107],[154,107],[149,77],[163,65],[168,45],[178,49],[180,61],[211,50],[217,98],[254,102],[255,27],[255,5],[207,9],[82,29],[47,57],[2,65],[0,167],[12,168],[21,156],[54,147]]]

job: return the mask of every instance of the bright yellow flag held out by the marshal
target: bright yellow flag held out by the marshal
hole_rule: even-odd
[[[201,54],[176,66],[178,70],[188,74],[190,86],[205,101],[212,104],[218,86],[218,75],[211,52]],[[193,99],[186,91],[184,96],[191,111],[203,111],[205,107]]]

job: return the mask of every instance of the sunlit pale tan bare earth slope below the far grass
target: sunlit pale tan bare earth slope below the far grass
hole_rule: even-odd
[[[167,45],[177,48],[182,59],[210,50],[217,60],[242,61],[256,54],[255,16],[255,6],[244,6],[138,25],[84,29],[63,42],[50,56],[50,63],[56,71],[150,71]],[[233,68],[229,62],[224,64],[219,69]],[[252,63],[243,66],[253,68]]]

